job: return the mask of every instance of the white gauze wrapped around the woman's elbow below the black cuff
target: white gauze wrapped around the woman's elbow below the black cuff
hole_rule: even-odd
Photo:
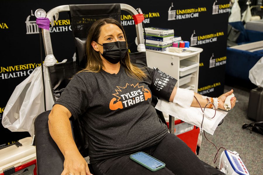
[[[192,90],[177,88],[173,102],[184,108],[190,108],[193,102],[193,96],[194,92]]]

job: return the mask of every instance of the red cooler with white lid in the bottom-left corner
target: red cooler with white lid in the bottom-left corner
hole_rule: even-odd
[[[0,149],[0,175],[37,175],[36,147],[32,137]]]

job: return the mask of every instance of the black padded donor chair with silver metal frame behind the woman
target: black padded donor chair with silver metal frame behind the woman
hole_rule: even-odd
[[[72,76],[77,73],[77,71],[81,70],[86,65],[86,31],[89,30],[92,22],[100,18],[107,17],[114,18],[120,22],[121,10],[129,12],[131,15],[138,14],[134,8],[127,4],[64,5],[53,8],[47,13],[47,17],[53,17],[53,15],[57,12],[68,11],[76,45],[76,61],[55,64],[54,66],[48,67],[51,91],[54,101],[60,97],[61,92],[63,92],[66,85],[69,83],[70,78],[72,78]],[[80,18],[90,19],[90,22],[86,24],[79,24],[78,20]],[[142,33],[142,24],[136,24],[135,27],[138,44],[143,44],[144,39]],[[50,33],[47,30],[42,30],[42,32],[45,53],[46,55],[53,54]],[[132,63],[147,66],[145,52],[130,53],[129,55]],[[157,97],[153,96],[152,105],[155,106],[157,101]],[[34,121],[38,175],[59,175],[63,171],[64,156],[49,134],[49,113],[50,111],[45,111],[39,114]],[[166,124],[162,112],[157,110],[157,113],[160,120]],[[70,118],[70,124],[72,128],[73,139],[79,149],[79,152],[83,157],[87,157],[88,141],[87,138],[83,136],[81,120],[73,120],[73,118]],[[172,132],[172,127],[169,128],[171,130],[170,132]],[[88,165],[91,173],[94,174],[92,166],[90,164]],[[204,165],[211,175],[224,174],[206,163],[204,163]]]

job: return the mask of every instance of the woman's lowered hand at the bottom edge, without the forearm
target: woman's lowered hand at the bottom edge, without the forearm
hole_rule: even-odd
[[[92,175],[85,159],[80,153],[65,155],[64,170],[61,175]]]

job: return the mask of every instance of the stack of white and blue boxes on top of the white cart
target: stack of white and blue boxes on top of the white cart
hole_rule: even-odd
[[[174,29],[163,29],[158,27],[145,28],[146,49],[165,51],[172,46]]]

